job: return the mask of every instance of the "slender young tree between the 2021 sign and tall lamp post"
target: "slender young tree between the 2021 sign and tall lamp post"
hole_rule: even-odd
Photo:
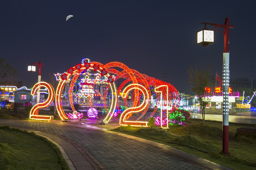
[[[208,66],[208,68],[194,69],[191,65],[188,72],[191,91],[198,95],[202,119],[203,123],[205,123],[205,107],[210,102],[210,98],[205,96],[205,87],[210,85],[211,68]]]

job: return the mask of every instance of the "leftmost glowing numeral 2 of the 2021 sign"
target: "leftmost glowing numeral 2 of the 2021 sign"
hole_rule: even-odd
[[[38,89],[40,89],[41,87],[45,87],[48,90],[48,92],[49,92],[48,98],[45,102],[37,103],[32,107],[32,109],[30,110],[29,119],[53,120],[53,116],[38,115],[39,109],[47,107],[54,100],[54,89],[53,89],[52,85],[50,85],[46,82],[38,82],[37,84],[35,84],[33,86],[33,88],[31,89],[31,95],[36,95]]]

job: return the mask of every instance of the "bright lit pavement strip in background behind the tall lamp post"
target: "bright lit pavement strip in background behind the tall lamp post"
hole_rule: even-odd
[[[191,118],[202,119],[202,115],[200,113],[191,113]],[[222,115],[205,114],[205,119],[222,121]],[[229,115],[228,121],[234,123],[256,124],[256,112],[237,113],[237,115]]]

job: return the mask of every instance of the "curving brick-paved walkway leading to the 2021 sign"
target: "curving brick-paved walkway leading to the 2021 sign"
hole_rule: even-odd
[[[60,148],[71,170],[229,170],[164,144],[107,129],[117,121],[34,121],[0,119],[10,125],[45,136]]]

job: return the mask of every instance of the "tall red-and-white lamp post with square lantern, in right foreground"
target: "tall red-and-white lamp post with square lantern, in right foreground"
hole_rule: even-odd
[[[223,130],[223,143],[222,143],[222,152],[228,156],[228,87],[229,87],[229,49],[228,49],[228,43],[229,43],[229,28],[234,28],[235,26],[230,26],[229,25],[229,18],[227,17],[225,19],[225,24],[213,24],[213,23],[201,23],[204,24],[205,27],[206,25],[210,26],[215,26],[215,27],[220,27],[220,30],[222,31],[221,28],[224,28],[224,51],[223,51],[223,74],[222,74],[222,79],[223,79],[223,120],[222,120],[222,130]],[[198,44],[202,44],[203,46],[208,46],[210,43],[212,43],[212,38],[211,39],[204,39],[204,34],[201,36],[202,33],[198,32]],[[214,33],[213,33],[214,34]],[[205,34],[207,37],[208,35]],[[206,40],[204,42],[204,40]],[[213,38],[214,41],[214,38]]]

